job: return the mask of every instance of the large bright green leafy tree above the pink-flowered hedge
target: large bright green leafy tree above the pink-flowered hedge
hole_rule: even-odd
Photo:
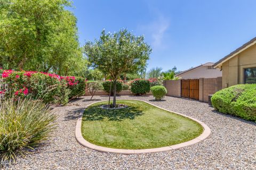
[[[68,0],[0,0],[0,61],[9,69],[81,74],[76,17]]]

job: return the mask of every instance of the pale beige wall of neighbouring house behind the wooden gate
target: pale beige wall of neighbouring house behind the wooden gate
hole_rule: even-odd
[[[220,69],[207,70],[207,66],[202,66],[178,76],[182,79],[217,78],[221,77],[222,73]]]

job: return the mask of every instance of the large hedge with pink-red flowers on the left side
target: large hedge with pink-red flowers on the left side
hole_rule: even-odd
[[[8,87],[1,89],[0,94],[6,97],[29,97],[42,99],[44,103],[66,104],[69,98],[81,96],[85,91],[84,78],[12,70],[4,70],[2,77]]]

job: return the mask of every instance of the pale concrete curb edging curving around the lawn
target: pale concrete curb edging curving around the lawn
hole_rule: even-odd
[[[118,99],[118,100],[136,100],[136,99]],[[99,102],[102,102],[102,101],[108,101],[108,100],[97,101],[97,102],[94,102],[94,103],[91,103],[91,104],[87,105],[86,107],[89,107],[89,106],[91,106],[91,105],[93,105],[95,103],[99,103]],[[137,100],[137,101],[143,101],[143,100]],[[155,106],[157,108],[163,109],[164,111],[172,112],[172,111],[169,111],[167,109],[164,109],[164,108],[161,108],[159,106],[156,106],[154,104],[151,104],[151,103],[149,103],[147,101],[143,101],[143,102],[145,102],[147,104],[150,104],[152,106]],[[82,125],[82,118],[83,118],[83,112],[82,112],[82,113],[79,114],[79,117],[78,117],[78,120],[77,120],[77,124],[76,124],[76,132],[75,132],[76,140],[81,145],[83,145],[83,146],[85,146],[87,148],[90,148],[90,149],[98,150],[98,151],[117,153],[117,154],[143,154],[143,153],[161,152],[161,151],[167,151],[167,150],[173,150],[173,149],[179,149],[179,148],[187,147],[187,146],[190,146],[190,145],[194,145],[195,143],[201,142],[204,139],[206,139],[207,137],[209,137],[209,135],[211,133],[211,130],[210,130],[210,128],[205,123],[203,123],[201,121],[198,121],[195,118],[190,117],[190,116],[186,116],[186,115],[183,115],[183,114],[180,114],[180,113],[176,113],[176,112],[172,112],[172,113],[181,115],[183,117],[188,117],[191,120],[196,121],[197,123],[201,124],[203,126],[203,128],[204,128],[203,133],[201,135],[199,135],[198,137],[196,137],[195,139],[192,139],[190,141],[179,143],[177,145],[161,147],[161,148],[151,148],[151,149],[115,149],[115,148],[101,147],[101,146],[94,145],[94,144],[86,141],[83,138],[82,132],[81,132],[81,125]]]

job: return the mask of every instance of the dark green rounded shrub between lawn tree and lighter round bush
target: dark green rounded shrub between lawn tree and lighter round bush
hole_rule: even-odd
[[[131,82],[131,91],[135,95],[143,95],[150,91],[150,81],[145,79],[135,79]]]

